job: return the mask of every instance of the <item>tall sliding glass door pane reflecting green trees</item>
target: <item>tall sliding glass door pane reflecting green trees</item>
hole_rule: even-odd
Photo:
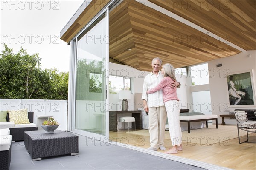
[[[101,18],[102,19],[102,18]],[[106,17],[78,37],[75,128],[106,134],[105,58]]]

